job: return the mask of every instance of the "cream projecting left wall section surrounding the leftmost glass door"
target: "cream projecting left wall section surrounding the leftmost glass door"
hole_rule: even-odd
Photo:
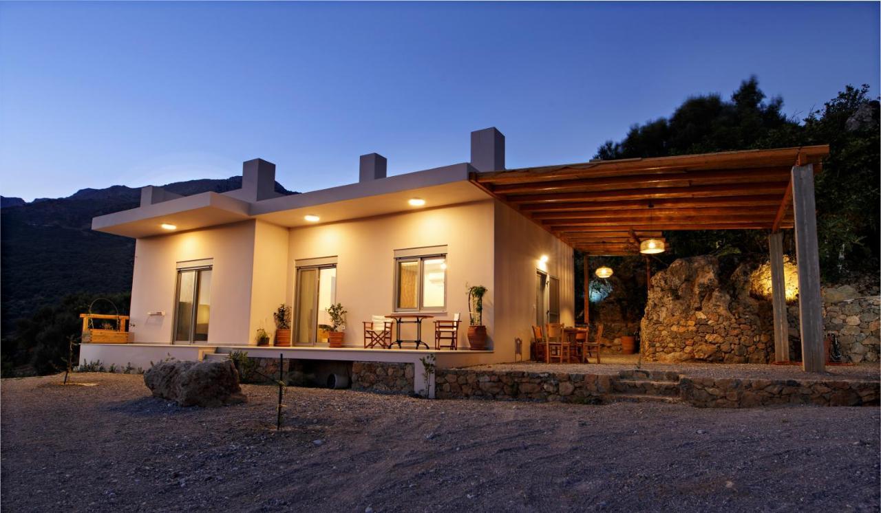
[[[177,262],[202,259],[213,259],[207,345],[240,345],[253,339],[248,336],[248,319],[255,226],[255,221],[244,221],[137,239],[130,309],[134,342],[171,343]],[[148,311],[165,315],[148,317]]]

